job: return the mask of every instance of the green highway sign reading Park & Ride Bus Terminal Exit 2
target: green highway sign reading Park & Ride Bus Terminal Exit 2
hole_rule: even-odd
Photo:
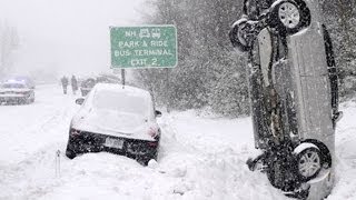
[[[178,63],[175,26],[111,27],[111,68],[174,68]]]

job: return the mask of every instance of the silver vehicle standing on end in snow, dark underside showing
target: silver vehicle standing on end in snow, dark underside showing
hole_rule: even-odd
[[[335,179],[337,71],[316,0],[245,0],[229,33],[248,54],[255,147],[248,160],[286,194],[322,199]]]

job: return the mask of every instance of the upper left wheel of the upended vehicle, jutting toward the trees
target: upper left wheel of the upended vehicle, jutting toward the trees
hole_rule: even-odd
[[[229,32],[229,38],[234,48],[237,48],[239,51],[244,51],[244,52],[251,49],[248,44],[247,36],[244,34],[244,31],[243,31],[246,23],[247,23],[247,20],[245,19],[237,21],[233,26],[231,31]]]

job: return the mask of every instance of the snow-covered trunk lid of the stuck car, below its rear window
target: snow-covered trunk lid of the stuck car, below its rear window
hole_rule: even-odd
[[[71,127],[92,133],[154,141],[147,132],[157,124],[138,114],[91,109],[75,116]]]

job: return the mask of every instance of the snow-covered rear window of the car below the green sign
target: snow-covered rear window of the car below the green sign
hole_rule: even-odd
[[[135,93],[102,90],[95,93],[92,103],[96,109],[148,116],[147,99]]]

